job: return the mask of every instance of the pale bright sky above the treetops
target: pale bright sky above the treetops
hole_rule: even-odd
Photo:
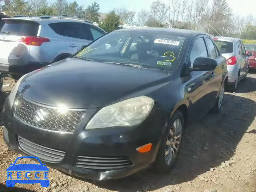
[[[100,4],[100,12],[108,13],[115,7],[124,7],[128,10],[139,12],[142,9],[149,10],[154,0],[95,0]],[[163,0],[169,4],[169,0]],[[252,14],[256,17],[256,0],[227,0],[232,12],[246,16]],[[77,0],[79,5],[87,7],[94,0]]]

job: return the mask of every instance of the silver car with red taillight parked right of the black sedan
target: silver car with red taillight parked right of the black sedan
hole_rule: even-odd
[[[215,37],[214,41],[222,56],[227,60],[228,88],[230,91],[235,91],[238,82],[246,79],[249,70],[249,55],[246,55],[244,44],[240,39]]]

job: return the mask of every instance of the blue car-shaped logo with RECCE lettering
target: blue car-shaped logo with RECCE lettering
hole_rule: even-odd
[[[32,159],[37,159],[40,163],[39,164],[16,164],[18,159],[22,158],[32,158]],[[10,167],[6,169],[7,171],[7,179],[6,179],[6,186],[8,187],[14,187],[16,183],[21,183],[21,184],[32,184],[32,183],[40,183],[42,187],[48,187],[50,185],[50,180],[48,178],[48,171],[49,169],[45,166],[46,164],[43,164],[38,157],[18,157],[16,158],[14,163],[10,164]],[[12,172],[10,171],[16,171],[17,176],[13,175]],[[25,173],[25,176],[27,179],[22,180],[21,179],[21,172],[20,171],[27,171]],[[28,173],[30,171],[37,171],[34,174],[34,177],[36,179],[31,179],[28,176]],[[38,174],[40,172],[44,172],[44,179],[40,179]],[[15,179],[12,179],[15,178]]]

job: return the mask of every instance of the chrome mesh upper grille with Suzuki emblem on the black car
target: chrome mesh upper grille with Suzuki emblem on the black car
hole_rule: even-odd
[[[85,111],[68,110],[61,114],[56,108],[42,106],[19,96],[14,116],[35,128],[73,133],[84,113]]]

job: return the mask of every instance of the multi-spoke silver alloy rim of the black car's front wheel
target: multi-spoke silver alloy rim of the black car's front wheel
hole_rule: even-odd
[[[172,124],[168,138],[166,141],[165,149],[165,161],[167,165],[170,165],[176,158],[180,147],[180,141],[182,136],[182,124],[179,119],[175,120]]]

